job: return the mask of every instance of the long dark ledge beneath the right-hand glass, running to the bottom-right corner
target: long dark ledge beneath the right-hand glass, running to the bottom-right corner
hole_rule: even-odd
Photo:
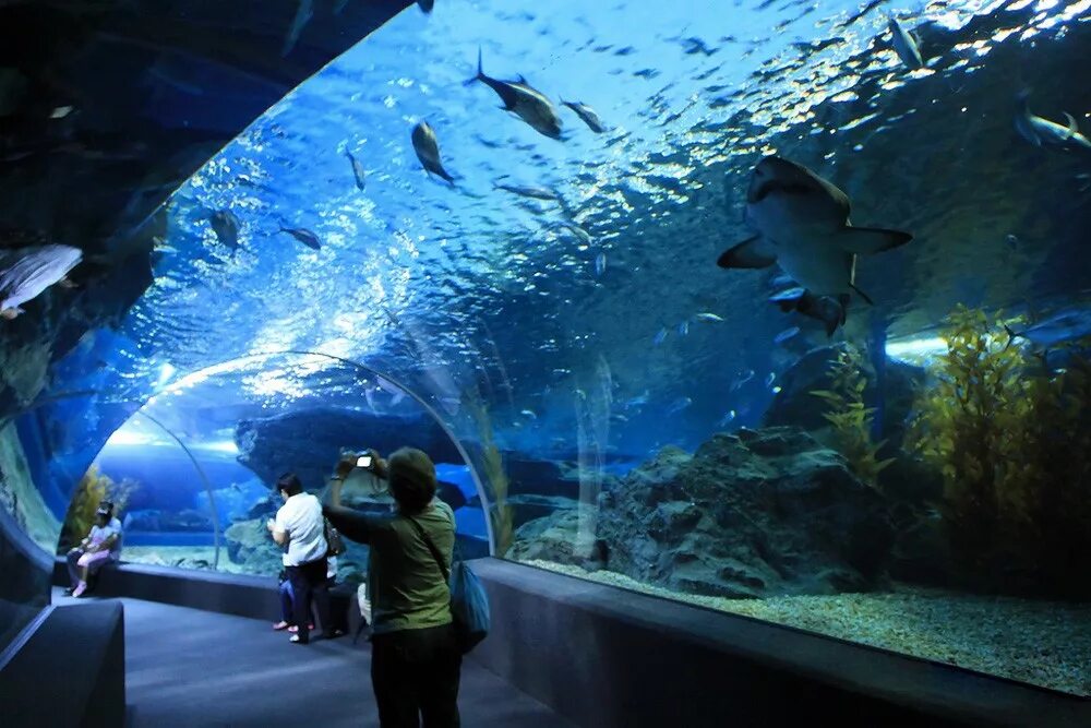
[[[583,726],[1091,726],[1091,701],[513,562],[470,658]],[[848,718],[848,720],[847,720]]]

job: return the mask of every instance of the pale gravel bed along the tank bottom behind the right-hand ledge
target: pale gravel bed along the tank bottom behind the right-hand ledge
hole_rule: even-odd
[[[680,594],[610,571],[550,561],[531,566],[787,624],[819,634],[1091,695],[1091,605],[970,596],[898,586],[892,592],[727,599]]]

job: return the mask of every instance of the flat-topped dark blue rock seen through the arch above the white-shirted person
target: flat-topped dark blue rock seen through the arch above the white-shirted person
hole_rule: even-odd
[[[343,447],[374,447],[383,455],[408,445],[436,463],[461,463],[443,429],[427,417],[376,416],[339,407],[316,407],[239,422],[239,462],[268,486],[292,470],[308,489],[322,488]]]

